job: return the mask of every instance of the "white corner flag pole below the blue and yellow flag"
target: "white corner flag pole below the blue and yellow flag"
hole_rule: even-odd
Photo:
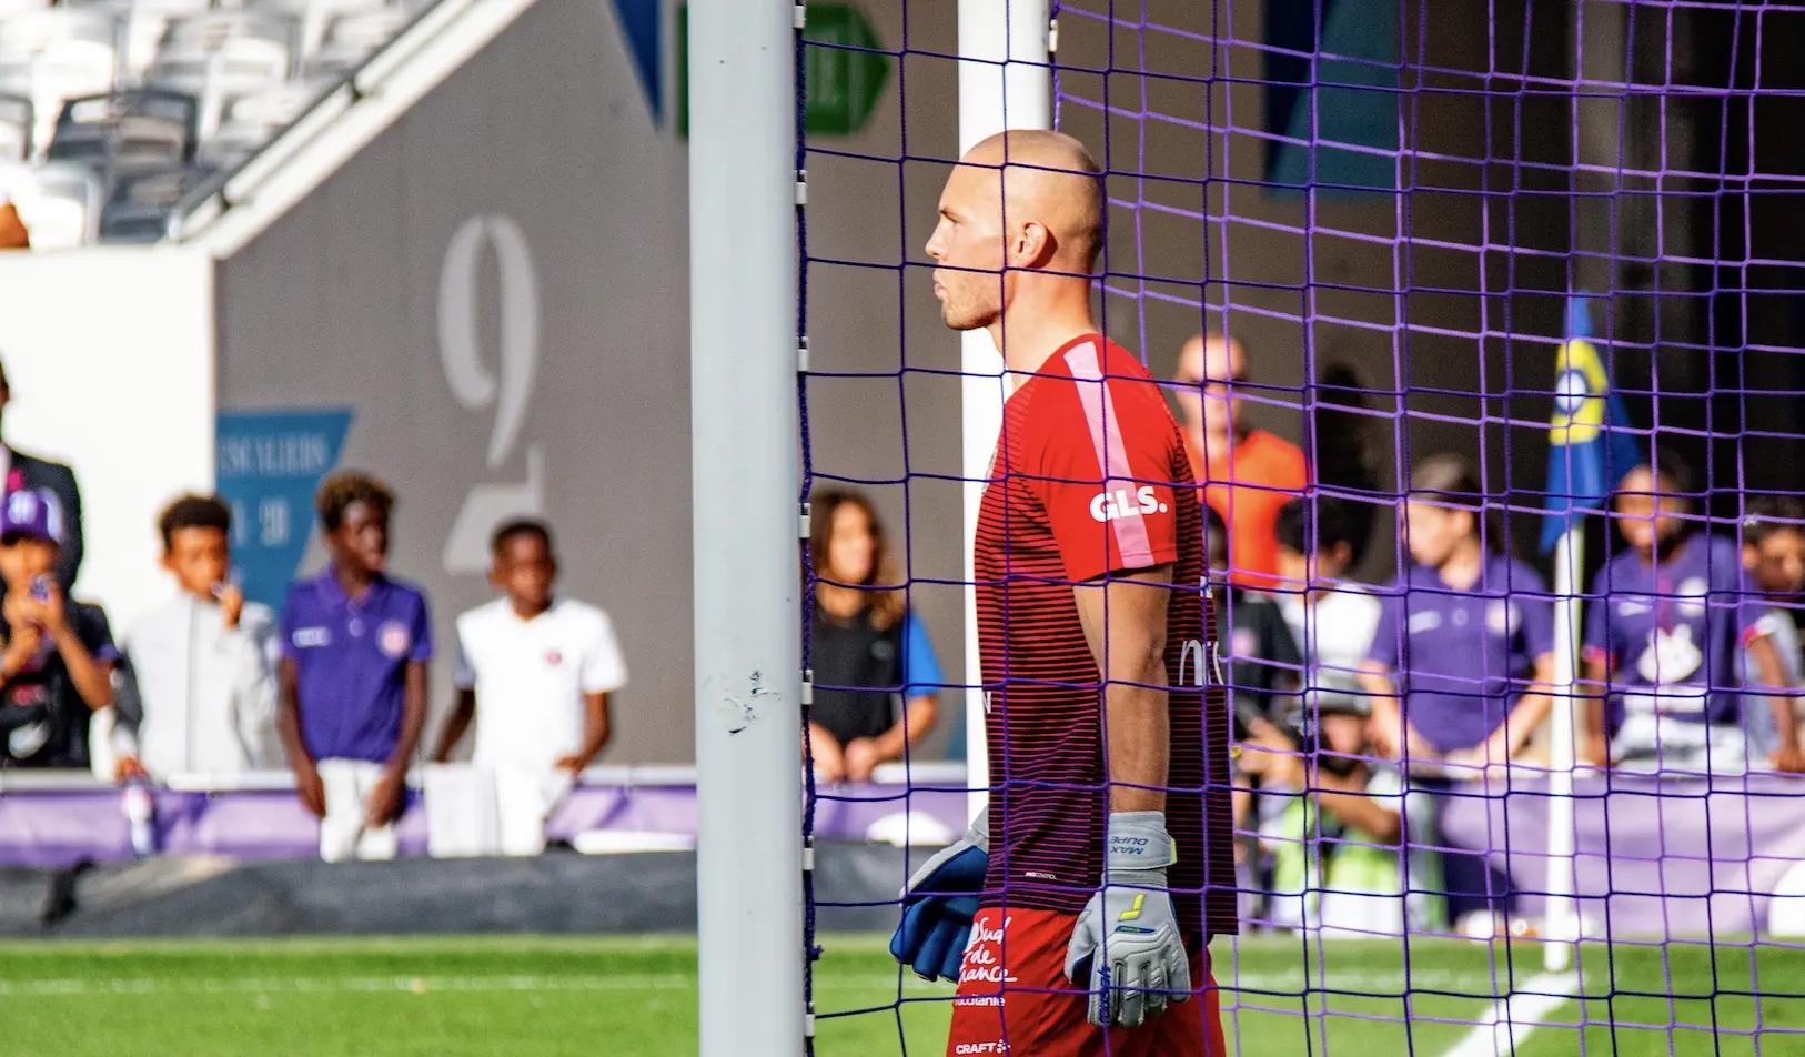
[[[1579,571],[1585,562],[1585,535],[1578,517],[1554,544],[1554,708],[1549,717],[1549,876],[1547,916],[1543,920],[1543,968],[1565,972],[1572,967],[1579,943],[1579,903],[1574,898],[1578,864],[1574,862],[1574,694],[1579,661]]]

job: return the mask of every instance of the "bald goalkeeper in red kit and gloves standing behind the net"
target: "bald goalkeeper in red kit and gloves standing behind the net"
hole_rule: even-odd
[[[977,528],[991,809],[912,878],[892,941],[958,981],[949,1055],[1224,1052],[1202,511],[1161,385],[1090,311],[1101,195],[1076,139],[1009,132],[955,166],[928,242],[946,323],[987,329],[1011,381]]]

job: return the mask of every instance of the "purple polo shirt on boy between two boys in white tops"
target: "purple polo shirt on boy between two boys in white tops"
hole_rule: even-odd
[[[329,567],[289,587],[282,656],[298,674],[307,752],[386,762],[401,739],[408,663],[433,656],[426,596],[377,576],[352,600]]]

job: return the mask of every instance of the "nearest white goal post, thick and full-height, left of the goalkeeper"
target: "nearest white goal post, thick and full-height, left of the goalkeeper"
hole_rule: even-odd
[[[702,1057],[803,1008],[796,5],[690,4],[697,970]]]

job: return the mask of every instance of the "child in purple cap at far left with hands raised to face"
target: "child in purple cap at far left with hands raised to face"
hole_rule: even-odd
[[[23,488],[0,502],[0,766],[87,768],[90,714],[114,699],[119,652],[106,614],[67,602],[52,576],[60,520],[45,490]]]

